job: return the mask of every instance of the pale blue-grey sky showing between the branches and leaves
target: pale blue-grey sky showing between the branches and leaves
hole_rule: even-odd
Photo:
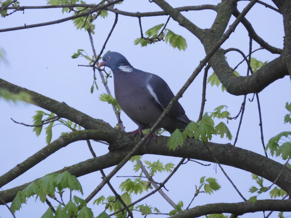
[[[20,1],[22,6],[45,5],[46,1],[40,0],[23,0]],[[199,5],[199,4],[217,4],[218,1],[168,1],[172,6],[184,5]],[[272,5],[271,1],[265,1]],[[86,3],[93,3],[93,1],[86,1]],[[239,10],[248,3],[248,1],[239,2]],[[130,12],[147,12],[161,10],[154,3],[149,3],[148,0],[125,0],[122,5],[116,6],[120,10]],[[216,15],[215,12],[194,11],[183,12],[183,14],[193,21],[200,28],[209,28]],[[0,19],[1,28],[23,26],[24,24],[36,24],[47,21],[52,21],[69,16],[62,14],[61,9],[39,9],[39,10],[25,10],[24,13],[19,11],[6,18]],[[283,23],[282,17],[272,10],[266,9],[264,6],[256,5],[246,15],[247,19],[252,23],[255,31],[265,41],[272,46],[283,48]],[[109,12],[106,19],[97,19],[95,27],[95,35],[93,35],[96,52],[99,53],[104,40],[106,39],[111,26],[114,22],[115,15]],[[142,18],[143,32],[148,28],[157,24],[165,23],[166,16]],[[232,17],[230,22],[233,22]],[[164,80],[171,87],[172,91],[177,93],[182,85],[186,82],[194,69],[205,56],[205,51],[199,40],[191,35],[186,29],[179,26],[172,19],[168,23],[167,28],[171,29],[177,34],[186,38],[188,48],[186,51],[179,51],[173,49],[165,42],[159,42],[147,47],[140,47],[134,45],[133,41],[140,37],[139,22],[137,18],[119,16],[116,28],[106,45],[105,51],[117,51],[122,53],[127,60],[137,69],[146,72],[157,74],[164,78]],[[104,121],[115,126],[117,121],[113,113],[112,107],[105,102],[99,101],[98,97],[105,89],[97,75],[97,83],[99,91],[94,90],[90,93],[90,87],[93,83],[93,71],[90,67],[78,67],[78,64],[88,65],[85,58],[72,59],[71,56],[77,49],[84,49],[89,56],[92,56],[91,44],[88,38],[88,33],[85,31],[76,30],[71,21],[55,24],[51,26],[43,26],[38,28],[31,28],[19,31],[10,31],[0,34],[1,45],[0,48],[6,52],[7,62],[0,62],[1,78],[10,83],[33,90],[42,95],[55,99],[57,101],[64,101],[69,106],[76,108],[92,117],[103,119]],[[223,48],[235,47],[241,49],[245,53],[249,50],[249,37],[240,24],[230,38],[223,44]],[[253,50],[259,48],[259,45],[253,43]],[[253,57],[263,62],[273,60],[278,55],[271,54],[265,51],[258,51],[253,54]],[[228,53],[227,60],[231,67],[237,65],[242,60],[242,57],[237,53]],[[107,69],[109,71],[109,69]],[[238,68],[241,75],[246,74],[245,65]],[[210,74],[212,71],[210,70]],[[195,81],[191,84],[189,89],[184,93],[180,103],[186,111],[189,119],[196,121],[200,112],[201,92],[202,92],[202,78],[203,73],[200,73]],[[113,78],[109,78],[109,88],[113,92]],[[262,108],[264,141],[267,144],[268,140],[281,131],[287,131],[287,125],[284,125],[284,116],[287,114],[285,103],[290,102],[290,78],[285,77],[273,84],[269,85],[262,92],[260,92],[260,104]],[[247,99],[252,98],[252,94],[247,95]],[[221,92],[221,87],[208,87],[206,93],[205,112],[212,112],[214,108],[219,105],[227,105],[228,111],[234,117],[239,112],[243,96],[233,96],[227,92]],[[38,138],[32,133],[32,128],[15,124],[10,118],[18,122],[32,124],[32,116],[36,110],[43,110],[36,106],[25,103],[10,103],[0,99],[0,133],[1,133],[1,167],[0,174],[4,174],[13,168],[18,163],[22,162],[29,156],[36,153],[43,148],[45,144],[45,134],[42,133]],[[256,100],[253,102],[246,102],[246,110],[242,127],[237,142],[238,147],[248,149],[264,155],[262,143],[260,139],[260,127],[258,118],[258,106]],[[136,129],[136,124],[132,122],[124,113],[121,115],[126,131],[133,131]],[[218,123],[219,121],[217,121]],[[213,142],[217,143],[233,143],[239,120],[229,121],[228,128],[230,129],[233,140],[220,139],[214,137]],[[290,128],[289,128],[290,130]],[[59,137],[60,132],[66,132],[69,129],[61,125],[53,128],[53,139]],[[166,134],[169,135],[169,134]],[[104,144],[92,142],[93,148],[97,156],[108,152],[108,148]],[[36,167],[33,167],[23,175],[16,178],[14,181],[2,187],[3,190],[22,185],[23,183],[32,181],[35,178],[44,176],[47,173],[62,169],[65,166],[70,166],[75,163],[92,158],[90,151],[87,148],[86,142],[75,142],[69,146],[57,151],[52,156],[48,157]],[[178,163],[180,158],[145,155],[143,160],[154,161],[160,159],[161,162]],[[278,159],[277,161],[280,161]],[[203,162],[207,163],[207,162]],[[255,182],[251,180],[251,173],[224,166],[224,169],[233,180],[238,189],[243,193],[246,199],[253,196],[248,191],[251,185]],[[111,169],[106,169],[108,174]],[[134,175],[132,165],[127,164],[117,174],[118,176]],[[155,177],[155,181],[162,182],[167,177],[167,173]],[[221,185],[221,190],[212,195],[199,194],[194,200],[191,207],[196,205],[203,205],[207,203],[219,202],[241,202],[243,201],[235,192],[225,178],[219,167],[214,164],[205,167],[194,162],[183,165],[177,171],[175,176],[166,183],[166,188],[169,192],[166,194],[175,202],[182,200],[184,208],[187,207],[195,192],[195,185],[199,185],[200,177],[214,177],[217,178]],[[101,174],[99,172],[92,173],[87,176],[78,178],[84,190],[84,198],[100,183]],[[113,177],[112,183],[117,189],[119,184],[126,178]],[[270,185],[265,181],[265,186]],[[120,192],[119,192],[120,193]],[[109,196],[113,193],[104,187],[96,199],[100,195]],[[268,194],[259,196],[258,199],[267,198]],[[139,196],[134,196],[138,199]],[[162,203],[161,203],[162,202]],[[167,213],[172,208],[159,195],[155,194],[143,201],[153,207],[157,207],[161,212]],[[10,205],[10,204],[9,204]],[[36,209],[37,206],[37,209]],[[97,216],[104,210],[104,206],[92,206],[94,216]],[[16,217],[31,217],[31,211],[35,217],[40,217],[47,205],[43,205],[38,201],[35,203],[34,199],[30,199],[27,205],[23,205],[20,212],[16,212]],[[271,217],[277,217],[277,212],[274,212]],[[285,217],[291,213],[285,213]],[[152,215],[154,216],[154,215]],[[262,212],[255,214],[247,214],[242,217],[263,217]],[[6,207],[0,206],[0,217],[12,217]],[[141,217],[141,216],[136,216]],[[158,215],[158,217],[165,217]]]

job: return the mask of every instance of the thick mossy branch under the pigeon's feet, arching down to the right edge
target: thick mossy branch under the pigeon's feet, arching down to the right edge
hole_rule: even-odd
[[[112,131],[115,131],[116,135],[114,137],[117,140],[109,146],[109,153],[97,158],[88,159],[70,167],[65,167],[54,173],[61,173],[67,170],[74,176],[79,177],[120,163],[120,161],[127,156],[129,151],[132,151],[139,139],[132,139],[131,135],[128,135],[123,131]],[[168,137],[159,136],[157,143],[151,141],[149,144],[141,146],[141,148],[132,155],[156,154],[210,162],[216,162],[214,159],[214,157],[216,157],[220,164],[249,171],[258,176],[262,176],[271,182],[276,181],[276,185],[281,187],[287,193],[291,193],[291,169],[284,167],[284,165],[266,158],[265,156],[235,147],[231,144],[209,142],[209,149],[207,149],[203,142],[192,139],[187,139],[184,142],[184,145],[175,151],[169,151],[166,146],[167,140]],[[210,153],[210,151],[212,153]],[[281,175],[278,177],[280,173]],[[3,192],[0,192],[0,197],[6,203],[11,202],[16,196],[17,191],[23,190],[27,185],[29,185],[29,183],[9,190],[4,190]]]

